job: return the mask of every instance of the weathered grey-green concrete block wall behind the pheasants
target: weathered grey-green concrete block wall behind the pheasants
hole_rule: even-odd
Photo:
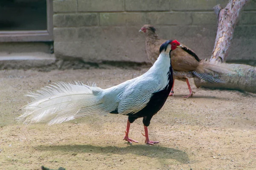
[[[217,31],[213,7],[228,0],[54,0],[54,50],[57,58],[84,62],[149,62],[144,24],[164,39],[177,39],[209,58]],[[244,9],[229,60],[256,59],[256,2]]]

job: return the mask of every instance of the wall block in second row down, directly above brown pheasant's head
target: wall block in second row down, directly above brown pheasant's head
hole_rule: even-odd
[[[150,12],[147,14],[147,23],[153,25],[190,25],[192,18],[186,12]]]

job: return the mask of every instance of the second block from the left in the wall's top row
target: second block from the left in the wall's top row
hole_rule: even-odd
[[[124,11],[124,0],[78,0],[78,11]]]

